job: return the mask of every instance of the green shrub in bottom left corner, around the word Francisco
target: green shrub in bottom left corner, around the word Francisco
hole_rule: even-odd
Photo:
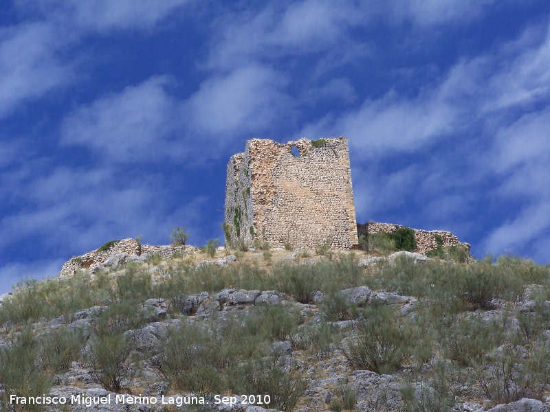
[[[10,395],[42,396],[50,393],[52,376],[45,371],[43,357],[39,356],[39,343],[27,328],[17,339],[0,347],[0,401],[10,404]],[[41,405],[12,405],[9,411],[39,411]]]

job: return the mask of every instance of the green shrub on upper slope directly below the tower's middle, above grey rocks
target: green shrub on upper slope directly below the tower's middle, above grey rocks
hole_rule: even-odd
[[[277,290],[287,293],[300,304],[311,304],[323,284],[316,265],[277,264],[273,268]]]

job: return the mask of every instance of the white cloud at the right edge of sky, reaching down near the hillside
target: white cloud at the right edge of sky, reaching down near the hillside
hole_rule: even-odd
[[[487,236],[490,251],[529,250],[539,260],[550,258],[544,249],[550,231],[550,107],[529,113],[498,130],[490,168],[502,182],[494,191],[503,207],[519,203],[515,216]]]

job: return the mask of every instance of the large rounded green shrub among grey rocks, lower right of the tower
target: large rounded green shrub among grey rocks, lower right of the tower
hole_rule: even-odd
[[[359,336],[341,345],[342,353],[354,369],[391,374],[408,357],[408,336],[387,306],[366,308],[363,316]]]

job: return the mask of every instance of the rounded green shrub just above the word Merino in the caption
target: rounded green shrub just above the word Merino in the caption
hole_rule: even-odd
[[[86,366],[94,381],[107,391],[120,392],[131,380],[126,361],[131,342],[121,333],[96,335],[87,352]]]

